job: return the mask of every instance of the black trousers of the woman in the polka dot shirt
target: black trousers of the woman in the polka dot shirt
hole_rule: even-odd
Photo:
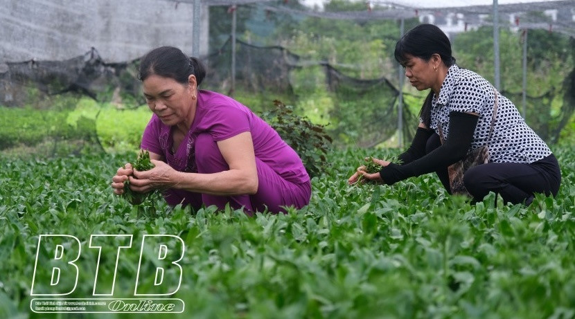
[[[433,134],[425,151],[432,152],[441,145],[439,135]],[[436,172],[439,180],[451,194],[448,167]],[[489,192],[501,195],[506,203],[531,203],[534,193],[556,196],[561,183],[557,158],[551,154],[533,163],[487,163],[470,168],[463,175],[463,183],[476,201]]]

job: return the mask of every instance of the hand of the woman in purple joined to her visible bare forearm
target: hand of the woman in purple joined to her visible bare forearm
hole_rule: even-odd
[[[130,188],[136,192],[150,192],[151,190],[167,189],[175,185],[177,171],[163,161],[151,160],[154,164],[152,170],[139,172],[134,170],[134,177],[130,176]]]

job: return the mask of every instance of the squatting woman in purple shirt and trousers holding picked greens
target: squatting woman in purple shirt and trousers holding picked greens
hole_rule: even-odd
[[[229,203],[249,213],[306,206],[310,177],[297,153],[240,102],[198,89],[205,74],[199,61],[178,48],[162,46],[143,57],[139,79],[154,114],[141,149],[150,152],[155,167],[120,167],[114,193],[122,194],[129,179],[134,192],[165,190],[172,206]]]

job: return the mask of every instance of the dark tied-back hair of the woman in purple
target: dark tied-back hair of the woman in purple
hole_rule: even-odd
[[[192,74],[195,75],[197,85],[206,77],[206,69],[200,60],[187,57],[179,48],[160,46],[142,57],[138,79],[143,81],[150,75],[159,75],[187,84]]]

